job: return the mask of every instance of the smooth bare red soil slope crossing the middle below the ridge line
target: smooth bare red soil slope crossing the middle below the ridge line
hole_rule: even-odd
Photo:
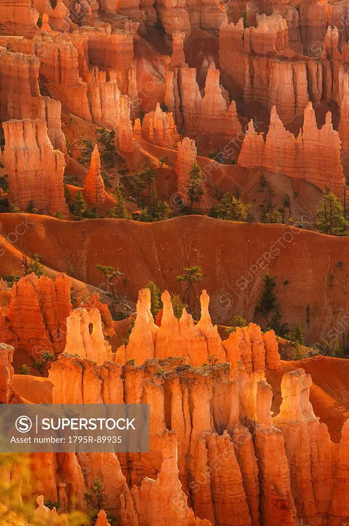
[[[24,215],[2,214],[2,235],[15,231]],[[102,277],[96,264],[122,272],[120,295],[135,299],[152,279],[161,289],[182,292],[175,278],[183,267],[201,265],[196,286],[211,294],[210,311],[229,325],[235,313],[253,319],[265,267],[276,276],[283,319],[300,322],[313,343],[342,329],[349,303],[349,239],[324,236],[285,225],[245,224],[187,216],[144,224],[121,219],[62,221],[30,216],[26,251],[38,252],[44,264],[96,287]],[[11,239],[11,236],[10,236]],[[21,242],[18,239],[17,244]],[[9,271],[19,252],[4,244],[0,271]],[[11,255],[8,253],[11,252]],[[9,259],[12,266],[9,266]],[[213,271],[214,269],[214,271]],[[249,282],[247,282],[249,281]],[[310,305],[310,323],[305,307]],[[262,323],[263,319],[256,321]]]

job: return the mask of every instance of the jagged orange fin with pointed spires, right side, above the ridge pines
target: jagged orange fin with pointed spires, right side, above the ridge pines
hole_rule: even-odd
[[[343,100],[343,121],[341,133],[345,139],[345,102]],[[340,135],[333,129],[331,113],[326,114],[326,122],[319,129],[315,113],[309,103],[304,111],[303,130],[297,138],[287,131],[273,106],[270,126],[263,135],[249,124],[238,158],[238,163],[247,168],[263,166],[274,172],[292,178],[305,179],[321,190],[330,188],[338,196],[343,195],[344,175],[341,165]]]

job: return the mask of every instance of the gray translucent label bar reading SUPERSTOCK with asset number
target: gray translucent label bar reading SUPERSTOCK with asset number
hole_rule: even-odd
[[[149,404],[0,404],[2,453],[150,451]]]

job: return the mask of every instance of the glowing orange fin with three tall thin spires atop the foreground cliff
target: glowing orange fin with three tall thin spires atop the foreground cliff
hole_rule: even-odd
[[[124,346],[117,351],[117,361],[124,363],[135,359],[138,364],[151,358],[186,357],[188,363],[201,366],[209,356],[214,355],[219,362],[235,363],[241,359],[247,372],[265,371],[266,367],[278,370],[281,367],[274,331],[263,336],[260,327],[250,323],[249,327],[237,328],[229,338],[222,342],[217,328],[214,328],[209,314],[210,298],[202,291],[201,318],[194,325],[190,314],[183,309],[181,318],[174,317],[170,295],[167,291],[161,296],[163,311],[160,327],[155,325],[150,308],[150,290],[141,289],[138,295],[137,316],[132,328],[126,350]],[[74,312],[74,311],[73,311]]]

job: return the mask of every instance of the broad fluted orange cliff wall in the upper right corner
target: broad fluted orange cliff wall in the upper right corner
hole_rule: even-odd
[[[220,27],[221,67],[239,85],[245,103],[276,106],[283,124],[302,115],[309,100],[314,106],[326,99],[341,104],[347,69],[346,47],[338,44],[337,27],[330,26],[330,6],[302,2],[300,14],[289,7],[257,15],[256,27],[244,28],[242,18]],[[342,33],[343,21],[337,22]]]

